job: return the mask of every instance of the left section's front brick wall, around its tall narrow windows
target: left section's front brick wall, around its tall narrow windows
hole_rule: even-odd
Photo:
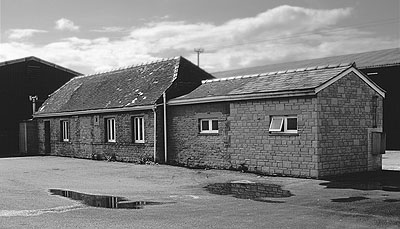
[[[133,142],[132,117],[143,116],[145,143]],[[116,142],[106,142],[105,118],[116,121]],[[50,121],[51,155],[77,158],[92,158],[99,155],[107,158],[116,155],[119,161],[139,162],[153,160],[153,111],[125,112],[115,114],[80,115],[38,119],[39,153],[44,154],[44,121]],[[95,123],[98,118],[98,124]],[[70,123],[70,140],[61,139],[61,121]]]

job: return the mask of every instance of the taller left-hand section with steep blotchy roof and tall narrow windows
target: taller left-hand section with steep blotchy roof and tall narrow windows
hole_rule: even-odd
[[[183,57],[73,78],[34,115],[39,152],[164,162],[166,101],[211,78]]]

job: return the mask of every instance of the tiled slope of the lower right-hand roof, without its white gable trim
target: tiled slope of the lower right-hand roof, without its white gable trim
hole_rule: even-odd
[[[272,94],[277,92],[290,93],[315,89],[352,66],[352,64],[336,64],[258,75],[205,80],[196,90],[176,98],[171,102],[173,104],[174,102],[191,99],[243,96],[246,94]]]

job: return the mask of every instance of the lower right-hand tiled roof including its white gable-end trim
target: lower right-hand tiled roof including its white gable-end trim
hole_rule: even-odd
[[[332,82],[336,77],[353,70],[353,64],[335,64],[244,75],[230,78],[204,80],[191,93],[170,100],[171,105],[240,100],[245,98],[282,97],[293,95],[313,95],[319,87]],[[355,70],[358,72],[358,70]],[[364,81],[381,92],[374,83],[359,73]]]

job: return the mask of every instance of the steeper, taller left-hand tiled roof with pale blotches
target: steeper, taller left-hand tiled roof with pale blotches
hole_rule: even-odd
[[[75,77],[50,95],[35,116],[154,105],[177,78],[182,59]]]

